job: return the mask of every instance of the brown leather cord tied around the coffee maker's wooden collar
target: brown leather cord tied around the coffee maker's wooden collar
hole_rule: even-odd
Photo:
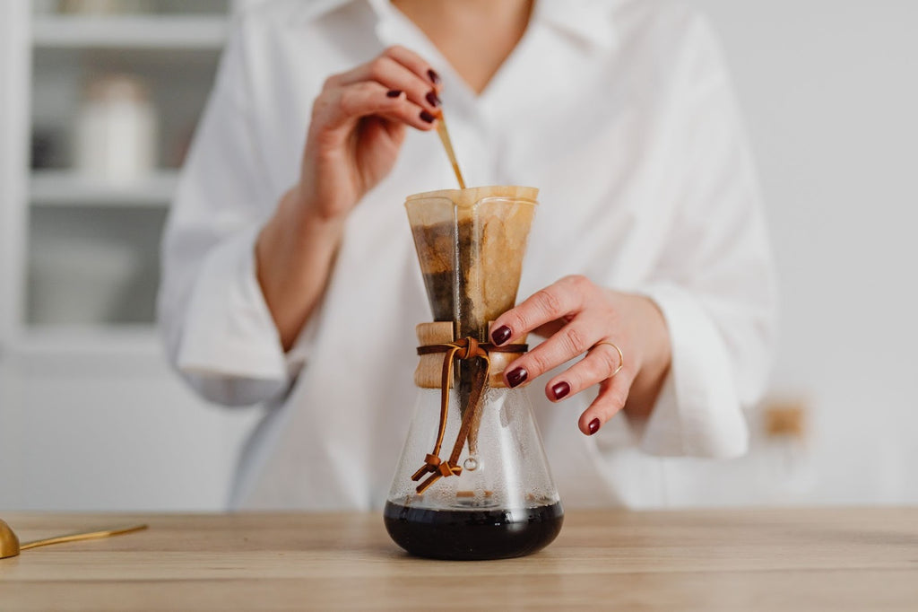
[[[440,383],[440,426],[437,431],[437,441],[433,445],[433,450],[424,458],[424,465],[420,470],[414,472],[411,480],[420,481],[425,474],[431,474],[427,480],[421,482],[416,491],[424,493],[434,482],[445,476],[458,476],[462,473],[459,466],[459,455],[465,447],[465,440],[468,438],[469,431],[472,428],[474,417],[478,409],[478,402],[481,400],[481,394],[485,391],[487,385],[487,376],[491,368],[491,359],[489,353],[525,353],[529,350],[527,345],[505,345],[497,346],[491,343],[478,342],[475,338],[467,336],[454,340],[453,342],[418,346],[418,355],[431,355],[432,353],[444,353],[442,378]],[[440,449],[443,444],[443,436],[446,434],[446,415],[450,407],[450,389],[453,387],[453,362],[456,359],[463,361],[472,361],[473,359],[482,359],[485,362],[485,369],[479,373],[476,380],[472,380],[472,389],[469,393],[468,406],[463,414],[462,425],[459,427],[459,435],[456,436],[453,445],[453,453],[446,461],[440,459]]]

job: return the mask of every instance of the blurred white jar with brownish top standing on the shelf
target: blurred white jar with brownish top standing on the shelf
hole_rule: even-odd
[[[73,163],[94,181],[123,185],[150,176],[156,167],[158,120],[140,78],[95,78],[76,120]]]

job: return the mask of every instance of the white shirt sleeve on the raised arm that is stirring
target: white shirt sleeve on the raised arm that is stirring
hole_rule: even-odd
[[[254,244],[279,193],[252,109],[245,19],[221,58],[162,242],[158,318],[169,358],[213,402],[285,391],[302,351],[285,354],[255,275]]]

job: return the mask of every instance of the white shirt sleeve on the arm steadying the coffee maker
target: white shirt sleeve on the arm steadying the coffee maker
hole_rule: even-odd
[[[650,419],[655,455],[728,458],[748,446],[744,408],[771,367],[776,280],[754,164],[707,22],[686,28],[667,138],[674,214],[640,292],[666,319],[672,365]]]

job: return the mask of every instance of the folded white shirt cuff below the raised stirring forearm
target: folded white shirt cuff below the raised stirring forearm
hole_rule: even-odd
[[[176,359],[185,374],[288,380],[288,358],[255,274],[252,227],[215,246],[197,275]]]

